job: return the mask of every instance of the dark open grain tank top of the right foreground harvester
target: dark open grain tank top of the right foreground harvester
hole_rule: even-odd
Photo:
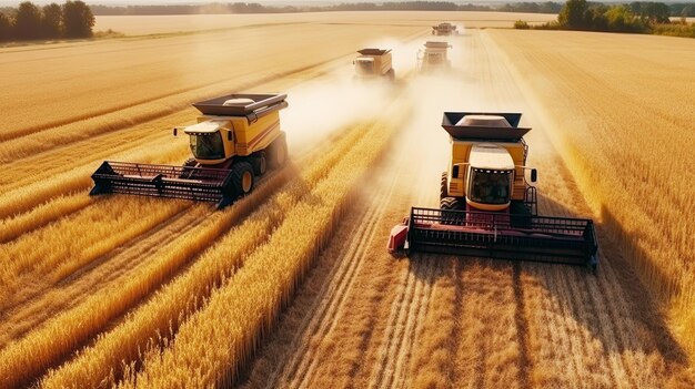
[[[442,127],[457,140],[518,141],[530,127],[520,127],[521,113],[444,112]]]

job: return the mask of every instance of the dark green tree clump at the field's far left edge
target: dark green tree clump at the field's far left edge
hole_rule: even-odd
[[[94,16],[83,1],[44,7],[24,1],[17,9],[0,9],[0,41],[88,38],[93,25]]]

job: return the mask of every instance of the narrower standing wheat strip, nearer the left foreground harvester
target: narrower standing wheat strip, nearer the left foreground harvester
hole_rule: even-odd
[[[308,188],[323,180],[331,166],[354,146],[362,136],[362,127],[353,129],[346,136],[338,140],[330,151],[319,151],[316,154],[320,157],[316,161],[303,161],[302,164],[308,166],[306,171],[295,177],[288,188],[275,194],[241,226],[226,234],[189,272],[160,290],[152,301],[131,314],[122,325],[101,336],[93,347],[82,350],[78,359],[51,371],[42,385],[56,388],[91,387],[109,379],[112,370],[119,370],[117,367],[121,361],[137,358],[138,350],[144,348],[158,331],[164,334],[171,320],[180,321],[182,311],[185,311],[183,318],[192,311],[192,308],[187,308],[192,299],[205,297],[208,289],[220,283],[221,277],[230,276],[234,268],[243,265],[245,256],[259,243],[268,239],[268,232],[278,226],[286,209],[305,196]],[[273,182],[265,187],[276,185]]]

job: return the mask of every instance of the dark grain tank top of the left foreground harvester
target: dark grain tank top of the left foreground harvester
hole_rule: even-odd
[[[288,106],[286,94],[233,93],[194,103],[204,115],[249,116],[260,115]]]

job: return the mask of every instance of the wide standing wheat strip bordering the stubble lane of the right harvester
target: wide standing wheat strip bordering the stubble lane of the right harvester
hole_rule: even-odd
[[[233,281],[216,290],[204,309],[181,326],[161,357],[145,360],[143,370],[129,377],[123,386],[134,385],[133,379],[144,386],[229,386],[236,378],[240,364],[248,360],[279,309],[290,299],[301,274],[326,244],[351,198],[350,188],[386,144],[391,131],[380,130],[365,136],[369,144],[355,147],[341,160],[312,193],[313,201],[294,207]],[[306,218],[309,214],[311,218]],[[187,356],[197,357],[191,360]],[[178,368],[172,370],[172,366]]]

